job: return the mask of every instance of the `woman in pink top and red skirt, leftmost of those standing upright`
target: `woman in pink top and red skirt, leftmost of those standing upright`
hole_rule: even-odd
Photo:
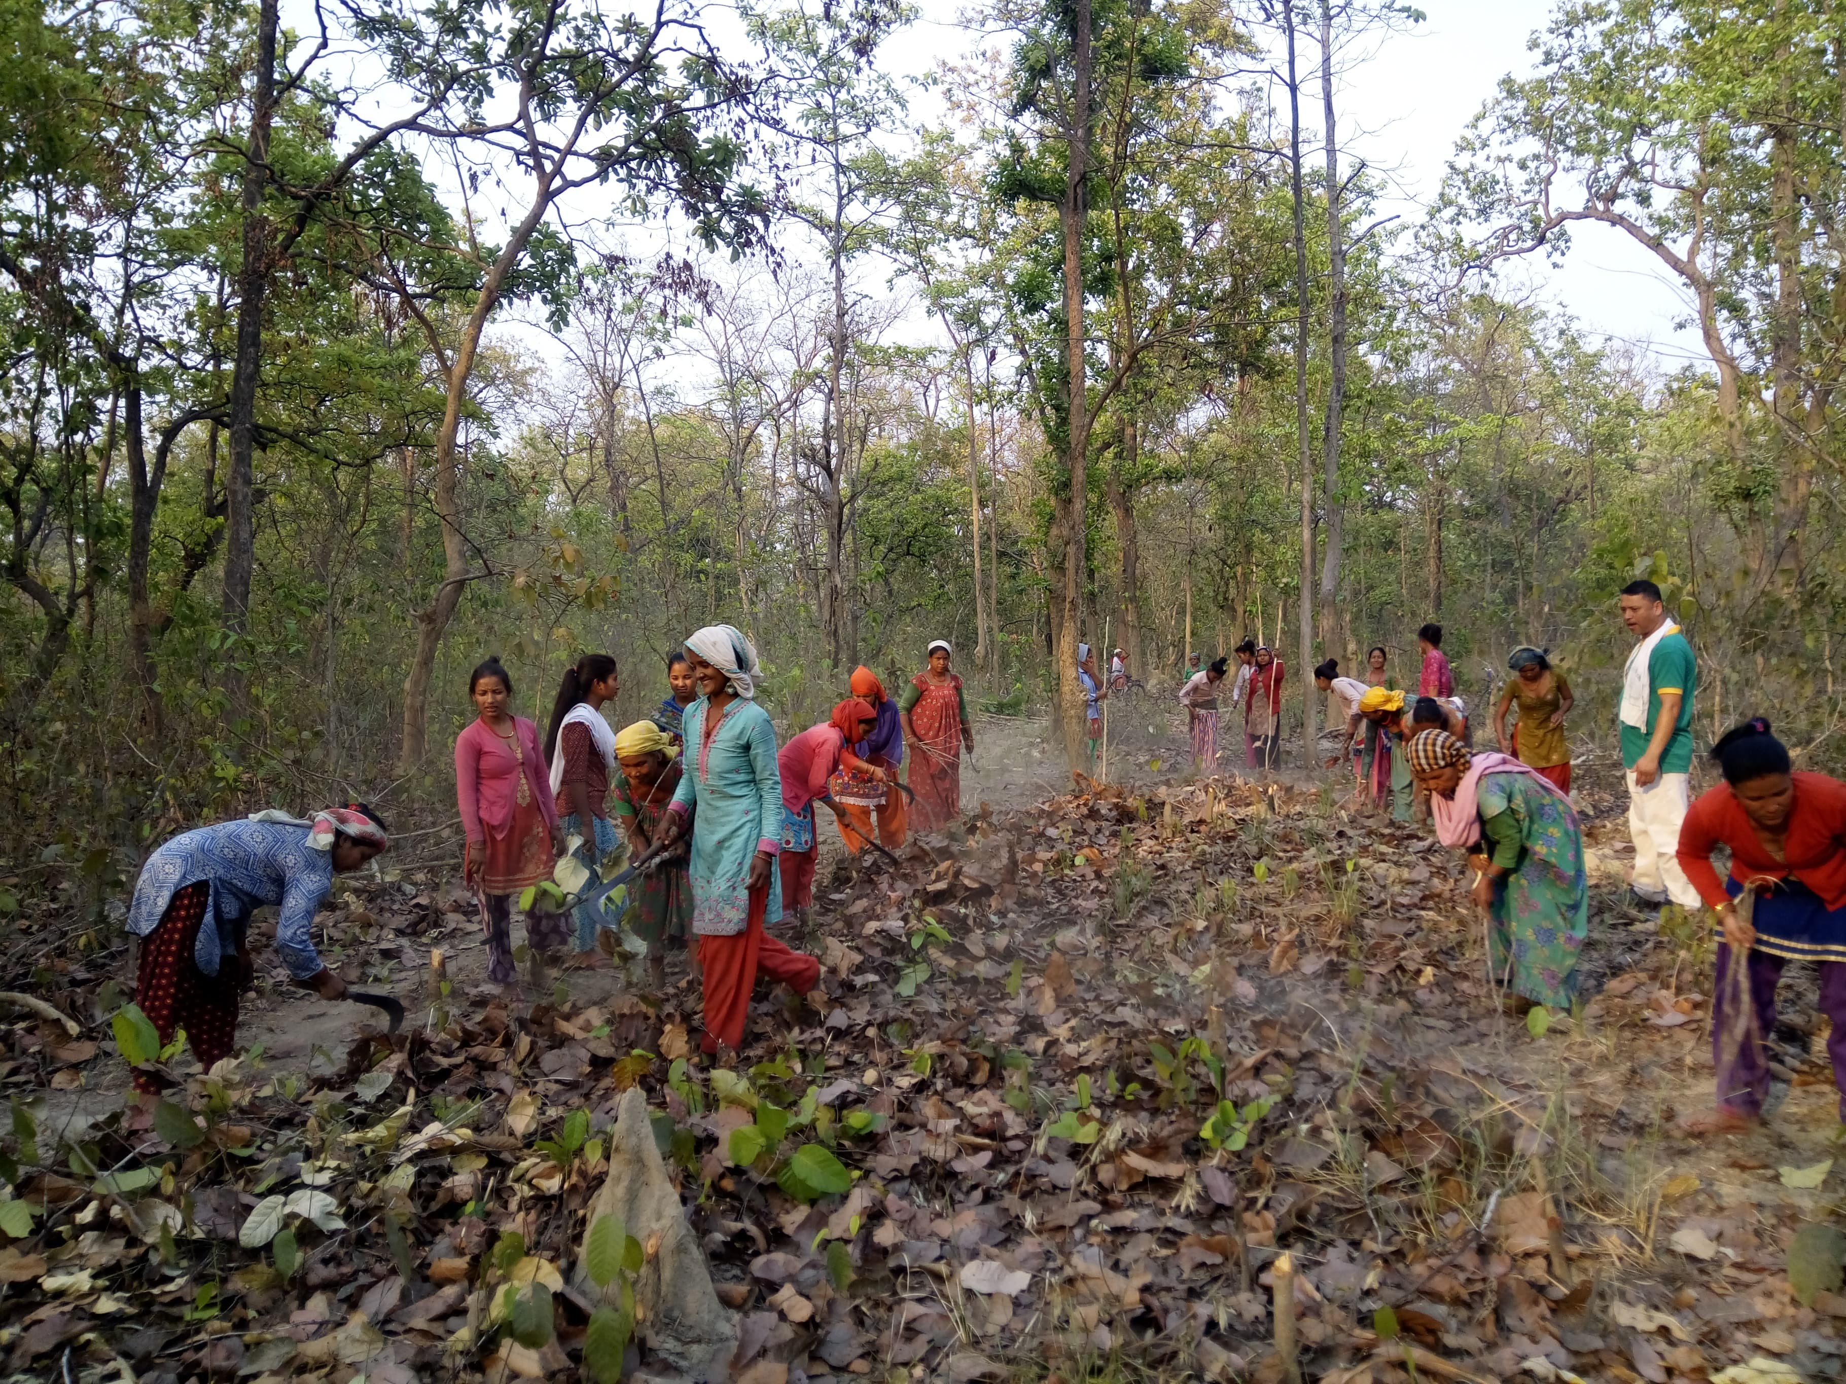
[[[552,862],[563,854],[563,832],[539,727],[506,709],[513,696],[506,668],[487,659],[469,677],[467,690],[478,716],[456,736],[456,803],[467,830],[462,875],[487,928],[487,978],[506,985],[519,978],[513,895],[550,878]],[[532,950],[557,950],[567,937],[563,913],[526,913]]]

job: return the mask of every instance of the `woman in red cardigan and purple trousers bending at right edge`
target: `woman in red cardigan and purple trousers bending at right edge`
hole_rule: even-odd
[[[1693,1116],[1695,1133],[1744,1129],[1763,1115],[1776,1026],[1776,984],[1789,961],[1815,961],[1820,1011],[1833,1022],[1828,1056],[1846,1120],[1846,784],[1794,773],[1787,746],[1761,716],[1711,747],[1724,782],[1702,793],[1680,829],[1680,867],[1720,932],[1711,1000],[1719,1105]],[[1728,847],[1730,878],[1711,853]],[[1752,889],[1750,917],[1737,899]],[[1741,954],[1741,963],[1739,963]],[[1741,974],[1739,974],[1741,969]]]

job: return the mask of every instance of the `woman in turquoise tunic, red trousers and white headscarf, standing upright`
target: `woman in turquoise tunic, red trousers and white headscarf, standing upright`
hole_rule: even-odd
[[[762,930],[783,917],[783,781],[775,727],[755,703],[757,651],[740,629],[707,626],[687,640],[687,655],[703,696],[687,707],[687,764],[663,840],[692,832],[692,932],[705,982],[700,1046],[716,1054],[742,1046],[759,974],[807,993],[820,984],[820,961]]]

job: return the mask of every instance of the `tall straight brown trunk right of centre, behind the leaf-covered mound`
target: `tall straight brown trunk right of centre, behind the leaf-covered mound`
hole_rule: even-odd
[[[1063,312],[1065,312],[1065,369],[1071,393],[1067,472],[1071,498],[1063,526],[1063,609],[1058,620],[1058,688],[1063,703],[1063,746],[1073,770],[1084,768],[1084,685],[1078,681],[1076,646],[1084,622],[1084,579],[1087,574],[1087,454],[1089,454],[1089,382],[1084,371],[1084,221],[1085,179],[1089,175],[1089,0],[1073,0],[1074,42],[1073,100],[1069,129],[1069,159],[1065,162],[1063,201],[1058,205],[1058,225],[1063,233]]]

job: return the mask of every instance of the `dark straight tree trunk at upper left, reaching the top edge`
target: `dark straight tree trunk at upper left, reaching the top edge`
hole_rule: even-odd
[[[270,288],[270,218],[262,192],[270,177],[275,120],[277,2],[257,15],[257,81],[251,92],[249,151],[244,161],[244,264],[238,268],[236,356],[231,365],[231,474],[225,478],[225,629],[249,627],[249,583],[257,568],[257,376],[262,373],[262,299]],[[233,668],[234,657],[225,661]],[[242,699],[242,677],[231,679]]]

